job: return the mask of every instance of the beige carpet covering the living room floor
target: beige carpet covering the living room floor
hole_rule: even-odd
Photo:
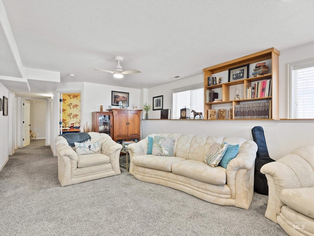
[[[267,196],[249,210],[223,207],[122,174],[61,187],[45,140],[9,157],[0,172],[1,236],[287,236],[264,217]]]

